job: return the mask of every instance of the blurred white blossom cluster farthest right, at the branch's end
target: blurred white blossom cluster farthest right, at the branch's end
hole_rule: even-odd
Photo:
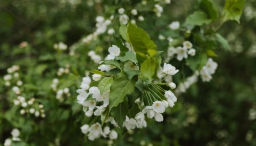
[[[218,64],[214,62],[212,58],[209,58],[206,64],[200,70],[202,81],[209,82],[212,79],[211,75],[215,73],[215,70],[217,69],[217,67],[218,67]]]

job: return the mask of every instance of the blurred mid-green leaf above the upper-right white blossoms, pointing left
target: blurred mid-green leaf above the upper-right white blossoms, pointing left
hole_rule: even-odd
[[[204,24],[209,24],[211,19],[203,11],[196,11],[186,18],[186,25],[202,26]]]

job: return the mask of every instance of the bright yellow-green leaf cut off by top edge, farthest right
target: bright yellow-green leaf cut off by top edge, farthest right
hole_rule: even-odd
[[[226,0],[224,7],[224,20],[236,20],[240,23],[244,3],[245,0]]]

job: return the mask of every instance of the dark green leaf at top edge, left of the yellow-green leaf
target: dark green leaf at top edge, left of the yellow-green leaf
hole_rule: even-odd
[[[202,0],[200,9],[202,9],[212,20],[217,20],[219,18],[220,14],[218,6],[212,0]]]

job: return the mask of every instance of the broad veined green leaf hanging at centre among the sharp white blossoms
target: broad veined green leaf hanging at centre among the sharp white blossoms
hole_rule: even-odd
[[[120,72],[110,87],[110,111],[124,100],[126,94],[131,94],[135,88],[135,81],[129,80],[124,72]]]

